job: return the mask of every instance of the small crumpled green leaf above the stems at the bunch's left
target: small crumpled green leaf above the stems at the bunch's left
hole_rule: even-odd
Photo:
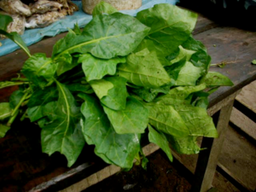
[[[50,58],[47,58],[45,54],[35,54],[25,61],[21,72],[33,84],[43,88],[48,84],[49,79],[54,78],[57,67],[58,65]]]

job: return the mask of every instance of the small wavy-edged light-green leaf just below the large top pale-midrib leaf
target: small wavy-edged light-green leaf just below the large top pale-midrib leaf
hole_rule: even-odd
[[[116,66],[119,63],[125,63],[125,57],[116,57],[109,60],[96,58],[90,54],[84,54],[79,57],[79,63],[82,62],[82,67],[86,80],[102,79],[105,75],[114,75]]]

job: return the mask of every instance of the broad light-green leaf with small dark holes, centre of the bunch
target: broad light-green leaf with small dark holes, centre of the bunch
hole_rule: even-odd
[[[171,82],[154,51],[146,55],[139,54],[140,52],[137,52],[127,56],[127,63],[118,67],[119,76],[124,77],[131,84],[148,88],[157,88]]]

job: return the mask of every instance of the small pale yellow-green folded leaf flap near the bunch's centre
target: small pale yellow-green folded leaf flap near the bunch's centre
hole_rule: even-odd
[[[90,86],[95,91],[96,96],[102,99],[103,96],[108,96],[108,90],[113,88],[113,84],[105,79],[90,81]]]

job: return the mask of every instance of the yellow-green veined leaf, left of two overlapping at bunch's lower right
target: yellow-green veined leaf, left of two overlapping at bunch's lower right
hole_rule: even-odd
[[[149,124],[157,130],[176,137],[189,135],[189,130],[183,119],[172,106],[154,104],[148,108]]]

